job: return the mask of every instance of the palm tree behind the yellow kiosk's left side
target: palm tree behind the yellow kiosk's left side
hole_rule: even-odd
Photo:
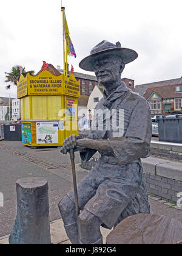
[[[10,73],[5,72],[5,82],[10,82],[9,85],[7,85],[5,88],[8,90],[11,87],[11,84],[17,85],[17,80],[21,76],[20,74],[21,66],[16,65],[13,66]],[[22,75],[25,77],[27,73],[34,74],[34,71],[25,71],[25,68],[22,68]]]

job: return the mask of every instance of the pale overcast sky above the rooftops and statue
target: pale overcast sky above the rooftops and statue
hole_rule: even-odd
[[[135,85],[182,76],[181,0],[62,0],[78,63],[102,40],[120,41],[138,52],[122,77]],[[61,0],[1,0],[0,96],[7,96],[5,74],[12,66],[37,73],[42,61],[63,66]],[[93,73],[88,73],[93,74]],[[16,97],[16,87],[10,89]]]

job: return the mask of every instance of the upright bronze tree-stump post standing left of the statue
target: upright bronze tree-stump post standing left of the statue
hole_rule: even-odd
[[[50,244],[48,183],[42,177],[16,181],[17,215],[10,244]]]

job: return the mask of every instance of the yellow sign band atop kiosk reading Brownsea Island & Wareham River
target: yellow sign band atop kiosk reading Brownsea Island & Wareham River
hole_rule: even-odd
[[[73,74],[70,77],[53,76],[49,71],[44,70],[37,76],[29,73],[26,77],[22,74],[17,83],[17,98],[26,95],[68,95],[80,97],[80,82],[75,79]]]

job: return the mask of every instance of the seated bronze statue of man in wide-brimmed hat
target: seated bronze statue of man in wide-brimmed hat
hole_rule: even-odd
[[[125,64],[137,56],[135,51],[121,48],[119,42],[102,41],[79,63],[81,68],[94,71],[104,87],[96,110],[111,115],[95,114],[89,136],[79,140],[72,135],[61,148],[62,154],[70,149],[79,151],[86,162],[96,151],[101,155],[98,165],[78,185],[79,239],[73,191],[59,203],[72,243],[102,243],[100,226],[111,229],[127,216],[150,212],[140,161],[150,154],[150,108],[146,99],[121,82]]]

